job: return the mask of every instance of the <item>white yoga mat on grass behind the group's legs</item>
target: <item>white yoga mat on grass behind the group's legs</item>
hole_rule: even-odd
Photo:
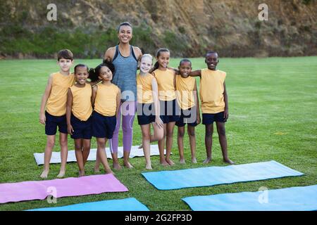
[[[132,146],[130,152],[130,158],[135,157],[143,157],[143,149],[138,148],[139,146]],[[166,153],[166,150],[164,150]],[[97,149],[92,148],[89,153],[88,161],[95,161],[96,160]],[[106,148],[107,158],[112,159],[111,151],[109,148]],[[44,165],[44,153],[33,153],[35,161],[37,165]],[[151,145],[151,155],[160,155],[159,147],[157,145]],[[118,148],[118,158],[123,158],[123,147]],[[67,162],[76,162],[76,155],[75,150],[68,151]],[[50,163],[61,163],[61,152],[53,152],[51,155],[51,162]]]

